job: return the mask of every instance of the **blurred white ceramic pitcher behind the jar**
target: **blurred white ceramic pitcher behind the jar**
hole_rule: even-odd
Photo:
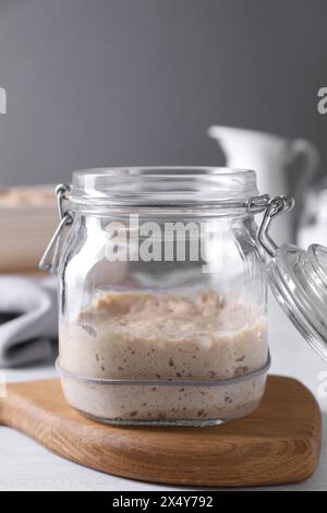
[[[312,143],[304,139],[290,141],[265,132],[231,127],[210,127],[208,135],[218,141],[227,157],[228,167],[254,169],[261,193],[272,196],[292,193],[299,212],[303,204],[303,194],[320,162],[319,153]],[[294,189],[294,186],[290,187],[289,167],[300,156],[303,165]],[[295,217],[296,210],[293,216],[281,217],[275,224],[272,235],[275,232],[281,242],[294,240]]]

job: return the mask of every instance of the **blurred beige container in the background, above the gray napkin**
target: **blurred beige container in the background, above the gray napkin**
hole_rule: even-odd
[[[37,271],[57,225],[55,186],[0,189],[0,272]]]

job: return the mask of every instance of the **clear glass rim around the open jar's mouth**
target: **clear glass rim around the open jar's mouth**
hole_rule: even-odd
[[[73,172],[71,202],[84,206],[219,206],[258,194],[251,169],[147,166]]]

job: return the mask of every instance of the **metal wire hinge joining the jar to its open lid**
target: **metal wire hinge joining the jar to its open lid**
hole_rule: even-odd
[[[280,195],[268,200],[257,238],[270,256],[275,256],[278,250],[278,244],[269,235],[271,222],[276,216],[291,211],[294,204],[295,200],[291,195]]]

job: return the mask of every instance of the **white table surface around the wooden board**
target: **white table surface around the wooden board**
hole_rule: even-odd
[[[301,338],[274,299],[269,299],[269,344],[272,373],[301,380],[317,397],[324,420],[319,467],[307,481],[267,490],[327,490],[327,363]],[[56,377],[52,366],[5,370],[8,382]],[[324,375],[325,373],[325,375]],[[324,397],[325,395],[325,397]],[[0,490],[182,490],[108,476],[51,454],[21,433],[0,427]]]

